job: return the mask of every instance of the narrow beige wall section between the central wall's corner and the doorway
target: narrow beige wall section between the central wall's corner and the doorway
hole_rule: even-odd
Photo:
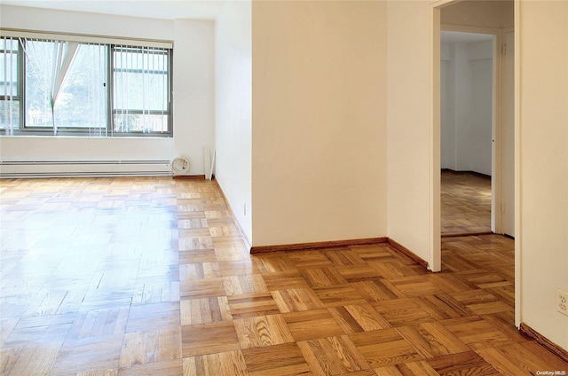
[[[429,3],[390,1],[387,11],[388,236],[431,265]]]

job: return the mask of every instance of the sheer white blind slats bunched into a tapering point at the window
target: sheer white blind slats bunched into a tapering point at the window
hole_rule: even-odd
[[[53,134],[56,135],[55,104],[79,43],[35,39],[20,39],[20,43],[29,64],[33,64],[41,73],[41,84],[51,106]]]

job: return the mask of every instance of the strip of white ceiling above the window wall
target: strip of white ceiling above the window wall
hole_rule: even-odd
[[[2,4],[163,20],[214,20],[225,2],[220,0],[2,0]]]

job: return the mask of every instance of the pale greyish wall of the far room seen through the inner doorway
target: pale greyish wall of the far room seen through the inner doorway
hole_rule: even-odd
[[[441,167],[492,174],[493,42],[442,43]]]

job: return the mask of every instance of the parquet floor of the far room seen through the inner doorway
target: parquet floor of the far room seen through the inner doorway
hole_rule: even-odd
[[[491,177],[442,170],[443,235],[491,232]]]

